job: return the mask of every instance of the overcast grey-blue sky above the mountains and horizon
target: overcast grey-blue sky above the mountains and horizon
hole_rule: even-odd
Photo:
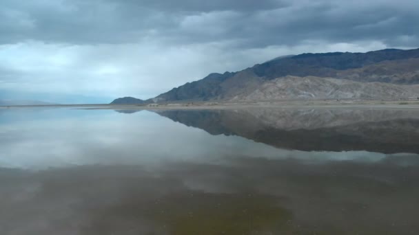
[[[1,0],[0,100],[147,99],[305,52],[419,47],[418,0]]]

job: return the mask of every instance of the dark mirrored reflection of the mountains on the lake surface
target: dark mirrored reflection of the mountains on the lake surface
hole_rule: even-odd
[[[368,109],[156,111],[212,135],[238,135],[278,148],[419,153],[419,112]]]

